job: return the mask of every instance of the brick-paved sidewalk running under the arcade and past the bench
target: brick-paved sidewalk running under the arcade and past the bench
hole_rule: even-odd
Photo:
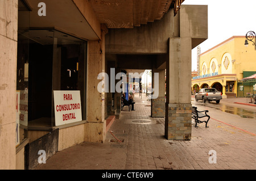
[[[255,135],[211,119],[209,128],[192,122],[190,141],[166,140],[164,118],[150,117],[146,105],[135,104],[136,111],[123,111],[119,120],[152,122],[127,125],[125,169],[256,169]],[[216,151],[217,163],[209,163],[210,150]]]

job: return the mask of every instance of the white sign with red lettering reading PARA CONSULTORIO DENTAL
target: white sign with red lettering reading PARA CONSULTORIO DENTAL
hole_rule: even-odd
[[[55,125],[82,120],[80,91],[53,91]]]

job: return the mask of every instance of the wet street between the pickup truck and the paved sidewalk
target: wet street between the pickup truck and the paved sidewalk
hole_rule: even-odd
[[[245,102],[245,99],[246,98],[221,99],[220,103],[216,104],[214,101],[203,103],[199,100],[196,102],[195,98],[192,96],[191,103],[192,106],[197,107],[199,111],[209,110],[208,115],[210,115],[211,119],[256,134],[256,106],[234,103]]]

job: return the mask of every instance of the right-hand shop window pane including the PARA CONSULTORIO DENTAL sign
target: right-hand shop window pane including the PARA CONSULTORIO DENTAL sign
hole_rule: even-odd
[[[60,110],[59,104],[52,102],[53,124],[60,125],[73,123],[79,121],[78,117],[85,119],[85,58],[86,58],[86,43],[75,37],[66,35],[59,31],[55,31],[54,44],[53,44],[53,91],[63,92],[69,96],[71,92],[72,105],[81,107],[81,113],[76,109],[72,112],[62,111],[60,115],[55,115],[56,109]],[[80,92],[77,92],[80,91]],[[67,93],[68,92],[68,93]],[[80,95],[78,95],[78,93]],[[62,93],[64,94],[64,93]],[[70,95],[70,96],[72,96]],[[54,95],[53,95],[54,96]],[[80,96],[80,100],[75,100],[74,96]],[[78,101],[78,102],[77,102]],[[70,106],[66,101],[61,102],[61,106]],[[70,117],[69,117],[70,115]],[[60,117],[59,117],[60,116]],[[61,120],[60,120],[61,119]],[[71,120],[73,119],[73,121]],[[59,123],[57,123],[59,122]]]

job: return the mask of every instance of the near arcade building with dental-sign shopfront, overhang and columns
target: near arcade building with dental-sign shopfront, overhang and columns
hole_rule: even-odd
[[[207,39],[207,6],[182,2],[0,1],[0,169],[104,142],[121,94],[101,83],[134,70],[159,75],[151,112],[166,138],[191,139],[191,49]]]

